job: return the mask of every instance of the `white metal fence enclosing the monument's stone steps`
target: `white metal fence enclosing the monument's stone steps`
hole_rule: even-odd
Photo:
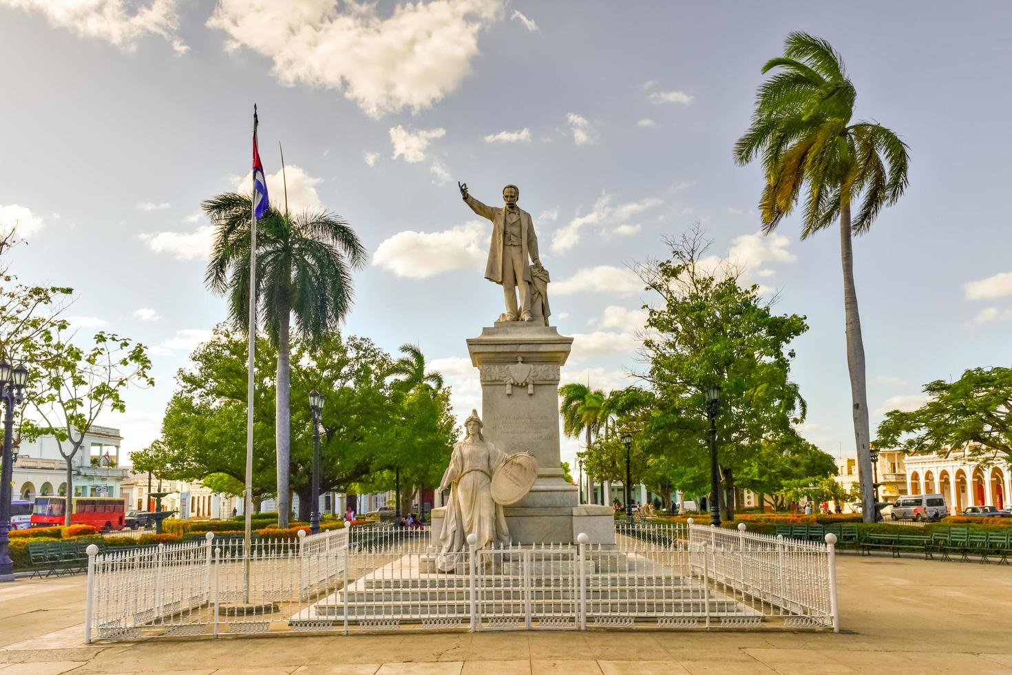
[[[427,528],[89,551],[86,641],[143,636],[587,627],[832,627],[834,551],[745,531],[618,523],[615,544],[469,551]],[[439,568],[442,568],[440,570]]]

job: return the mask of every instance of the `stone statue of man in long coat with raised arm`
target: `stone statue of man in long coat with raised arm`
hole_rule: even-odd
[[[530,321],[530,293],[524,279],[530,279],[530,263],[540,266],[537,257],[537,236],[530,214],[516,205],[520,189],[516,185],[503,188],[503,207],[487,206],[468,193],[467,183],[457,183],[460,196],[471,209],[482,218],[492,221],[492,242],[489,246],[489,261],[485,266],[485,278],[503,287],[506,297],[506,313],[500,321]],[[517,305],[517,288],[520,303]]]

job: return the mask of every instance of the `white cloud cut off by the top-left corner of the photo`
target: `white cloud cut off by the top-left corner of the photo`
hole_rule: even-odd
[[[40,12],[50,25],[66,28],[80,37],[103,39],[133,51],[145,35],[168,39],[176,54],[189,50],[175,35],[179,26],[176,0],[0,0],[0,4]],[[141,5],[141,6],[138,6]]]

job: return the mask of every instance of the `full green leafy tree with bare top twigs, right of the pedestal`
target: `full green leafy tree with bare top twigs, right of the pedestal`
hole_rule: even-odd
[[[698,229],[666,243],[669,259],[638,267],[660,299],[649,308],[642,350],[650,363],[642,377],[657,399],[643,442],[648,454],[669,457],[675,485],[690,493],[708,492],[703,392],[719,386],[723,510],[731,518],[739,475],[748,475],[765,443],[791,438],[792,425],[805,419],[805,401],[789,376],[794,358],[789,345],[808,326],[805,317],[773,314],[758,286],[739,285],[732,266],[704,265],[708,242]]]

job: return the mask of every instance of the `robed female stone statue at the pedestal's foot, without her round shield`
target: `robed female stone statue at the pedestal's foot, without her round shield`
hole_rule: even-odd
[[[478,549],[509,543],[503,507],[492,499],[492,475],[507,455],[485,440],[477,410],[471,412],[463,427],[466,435],[453,446],[439,483],[439,492],[450,489],[436,562],[442,572],[454,571],[458,562],[455,554],[467,549],[467,537],[472,532],[478,536]]]

